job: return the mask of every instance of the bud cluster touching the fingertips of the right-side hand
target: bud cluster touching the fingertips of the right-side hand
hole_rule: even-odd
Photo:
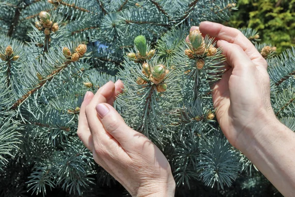
[[[189,49],[185,49],[184,54],[189,59],[195,59],[203,57],[204,54],[207,56],[214,56],[217,49],[211,44],[209,48],[206,48],[206,44],[202,33],[199,30],[194,30],[189,33]]]

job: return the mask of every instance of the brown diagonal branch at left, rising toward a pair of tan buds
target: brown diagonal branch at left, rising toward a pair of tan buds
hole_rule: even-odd
[[[54,70],[51,74],[49,74],[44,80],[40,81],[40,83],[37,84],[37,87],[33,88],[32,90],[30,90],[29,92],[27,92],[25,95],[23,95],[23,97],[21,99],[18,99],[13,105],[12,105],[12,109],[15,109],[16,107],[18,107],[22,102],[24,102],[24,100],[28,99],[29,96],[33,93],[35,93],[37,90],[39,90],[40,88],[42,88],[44,86],[44,84],[48,81],[51,81],[53,79],[53,77],[56,74],[59,74],[59,72],[66,68],[71,62],[66,62],[64,64],[64,66],[59,67],[58,69]]]

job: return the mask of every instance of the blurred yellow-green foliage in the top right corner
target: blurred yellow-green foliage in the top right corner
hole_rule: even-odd
[[[278,53],[295,46],[295,0],[237,0],[237,6],[225,25],[257,30]]]

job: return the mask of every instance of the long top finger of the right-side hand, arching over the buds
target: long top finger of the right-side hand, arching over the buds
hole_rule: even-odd
[[[257,65],[263,64],[265,66],[265,59],[257,51],[252,42],[237,29],[205,21],[200,23],[200,31],[201,33],[208,34],[211,37],[216,37],[218,39],[223,39],[230,43],[239,45],[245,51],[250,60]]]

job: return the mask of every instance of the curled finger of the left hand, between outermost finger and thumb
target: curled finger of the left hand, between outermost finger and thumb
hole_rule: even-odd
[[[109,143],[109,140],[113,138],[104,130],[103,126],[101,125],[95,106],[99,103],[107,102],[107,100],[111,99],[114,91],[115,84],[112,81],[106,83],[97,91],[91,102],[86,107],[86,117],[94,144],[106,144]]]

